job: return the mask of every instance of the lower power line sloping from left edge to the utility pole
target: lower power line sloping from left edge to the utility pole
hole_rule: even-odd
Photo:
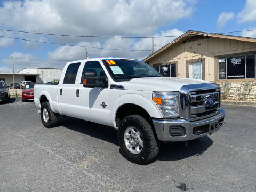
[[[151,50],[130,50],[130,49],[111,49],[111,48],[103,48],[103,47],[91,47],[91,46],[82,46],[82,45],[70,45],[70,44],[62,44],[62,43],[52,43],[52,42],[43,42],[43,41],[36,41],[31,39],[23,39],[23,38],[15,38],[15,37],[7,37],[7,36],[0,36],[4,38],[11,38],[17,39],[21,41],[29,41],[29,42],[37,42],[37,43],[47,43],[47,44],[54,44],[54,45],[65,45],[65,46],[75,46],[75,47],[86,47],[91,49],[101,49],[101,50],[117,50],[117,51],[151,51]]]

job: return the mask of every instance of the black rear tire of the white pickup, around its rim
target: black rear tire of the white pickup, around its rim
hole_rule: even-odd
[[[44,108],[47,109],[48,111],[48,116],[49,116],[49,119],[47,122],[44,121],[44,118],[43,118],[43,110]],[[43,125],[47,128],[52,128],[52,127],[55,127],[58,125],[58,122],[59,122],[59,115],[57,113],[54,113],[50,107],[50,104],[49,102],[43,102],[42,105],[41,105],[41,113],[40,113],[40,116],[41,116],[41,121],[43,123]]]

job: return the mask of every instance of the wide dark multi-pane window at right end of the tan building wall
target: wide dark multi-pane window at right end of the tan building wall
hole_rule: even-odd
[[[218,59],[219,79],[255,78],[255,54]]]

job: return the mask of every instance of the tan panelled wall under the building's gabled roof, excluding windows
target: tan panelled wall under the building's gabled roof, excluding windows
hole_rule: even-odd
[[[207,81],[218,79],[217,58],[221,55],[230,55],[255,51],[256,43],[237,41],[224,38],[210,37],[191,42],[170,46],[168,49],[155,55],[146,62],[153,66],[161,63],[177,62],[178,77],[186,77],[186,60],[202,59],[205,61],[204,76]],[[239,55],[239,54],[238,54]],[[214,65],[215,63],[215,65]]]

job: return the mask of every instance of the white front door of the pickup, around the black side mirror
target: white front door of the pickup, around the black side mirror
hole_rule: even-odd
[[[107,88],[83,86],[84,71],[94,71],[96,77],[103,77],[107,76],[105,70],[102,68],[100,60],[85,62],[82,73],[79,73],[80,83],[77,85],[79,96],[76,97],[76,109],[78,118],[110,125],[109,84]]]

